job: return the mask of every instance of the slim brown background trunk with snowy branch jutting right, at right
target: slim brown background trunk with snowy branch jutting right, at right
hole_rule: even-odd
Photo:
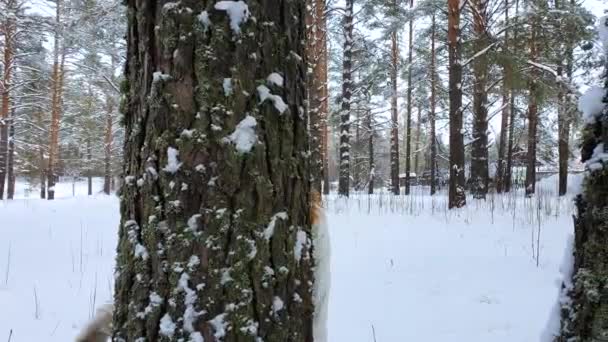
[[[530,61],[536,62],[539,44],[537,42],[538,19],[532,18],[530,35]],[[526,196],[531,196],[536,188],[536,143],[538,127],[538,84],[536,68],[530,70],[528,80],[528,152],[526,154]]]

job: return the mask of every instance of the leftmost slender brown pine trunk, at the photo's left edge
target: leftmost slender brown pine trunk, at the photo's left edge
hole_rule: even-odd
[[[13,76],[15,21],[10,15],[2,23],[0,33],[4,35],[4,69],[2,74],[2,107],[0,108],[0,199],[4,198],[7,175],[8,127],[11,107],[10,87]],[[10,182],[10,179],[9,179]]]

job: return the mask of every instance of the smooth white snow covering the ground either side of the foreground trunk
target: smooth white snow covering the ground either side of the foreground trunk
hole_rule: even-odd
[[[554,181],[533,199],[457,211],[422,188],[328,198],[329,341],[542,341],[558,323],[572,235],[570,196],[558,199]],[[73,341],[111,300],[118,199],[74,190],[59,184],[47,202],[19,184],[21,199],[0,202],[0,340]]]

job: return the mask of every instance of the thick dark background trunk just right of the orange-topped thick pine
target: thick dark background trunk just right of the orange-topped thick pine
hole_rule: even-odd
[[[487,2],[473,0],[474,51],[478,56],[473,61],[473,143],[471,146],[471,192],[474,198],[486,198],[488,193],[488,57],[483,53],[490,44],[488,37]]]

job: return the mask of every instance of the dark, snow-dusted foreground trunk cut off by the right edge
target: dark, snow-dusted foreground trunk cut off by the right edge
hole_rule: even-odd
[[[600,25],[606,25],[605,20],[601,20]],[[608,77],[604,77],[605,98]],[[600,144],[603,144],[603,148]],[[562,301],[558,342],[599,342],[608,338],[608,172],[604,157],[608,153],[606,108],[603,114],[583,129],[581,150],[587,172],[583,193],[575,199],[574,268],[571,279],[565,281],[569,298]]]

